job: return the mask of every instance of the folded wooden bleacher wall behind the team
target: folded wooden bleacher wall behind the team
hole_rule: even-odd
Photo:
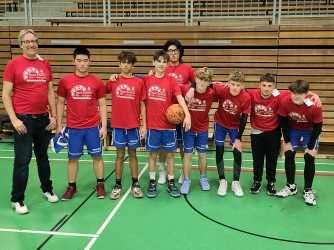
[[[0,43],[6,44],[1,48],[7,50],[7,56],[16,56],[21,53],[21,50],[14,46],[21,27],[7,29],[9,31],[4,29],[1,34],[2,37],[10,34],[10,42],[7,40],[6,43],[6,39],[0,40]],[[326,46],[333,44],[334,27],[85,27],[85,33],[81,27],[34,29],[39,34],[40,54],[52,65],[55,87],[63,74],[73,72],[73,46],[55,45],[58,39],[69,40],[69,44],[71,40],[79,41],[88,48],[92,46],[91,72],[104,80],[107,80],[111,73],[118,72],[117,56],[124,48],[137,54],[135,73],[147,73],[152,65],[153,52],[171,37],[180,39],[187,47],[183,58],[185,63],[191,63],[194,68],[212,68],[215,80],[227,80],[228,74],[234,69],[246,74],[246,87],[251,88],[258,85],[259,76],[266,72],[277,74],[278,87],[281,89],[286,89],[295,79],[305,79],[310,82],[312,91],[318,93],[323,102],[325,121],[322,145],[333,145],[334,53],[331,47]],[[149,41],[150,45],[136,46],[127,43],[143,40]],[[2,59],[2,69],[7,60],[8,57]],[[210,111],[210,135],[213,132],[212,115],[216,107],[215,104]],[[110,100],[108,110],[111,110]],[[246,147],[249,147],[249,133],[248,125],[244,136]]]

